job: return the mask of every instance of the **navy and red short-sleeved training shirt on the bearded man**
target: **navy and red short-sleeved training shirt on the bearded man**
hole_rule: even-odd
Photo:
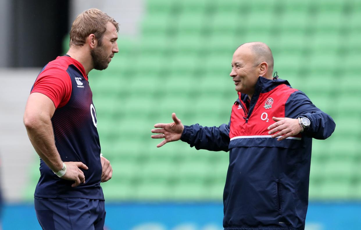
[[[40,179],[34,196],[44,198],[87,198],[104,200],[101,181],[100,143],[97,119],[88,76],[80,62],[70,56],[57,57],[38,75],[31,93],[48,96],[55,105],[51,119],[55,145],[63,162],[83,162],[86,183],[56,176],[40,159]]]

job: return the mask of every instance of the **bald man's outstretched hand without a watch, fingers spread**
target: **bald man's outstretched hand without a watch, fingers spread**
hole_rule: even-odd
[[[159,133],[156,135],[152,135],[152,138],[158,139],[158,138],[165,138],[162,142],[160,142],[157,147],[161,147],[165,145],[165,143],[171,142],[171,141],[178,141],[181,139],[182,132],[184,129],[183,124],[181,123],[181,120],[177,118],[175,113],[172,114],[173,123],[164,124],[164,123],[158,123],[154,125],[154,128],[159,129],[152,129],[152,133]]]

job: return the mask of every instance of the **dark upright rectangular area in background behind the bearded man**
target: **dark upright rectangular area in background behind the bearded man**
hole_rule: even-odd
[[[69,0],[10,1],[9,67],[42,67],[62,54]]]

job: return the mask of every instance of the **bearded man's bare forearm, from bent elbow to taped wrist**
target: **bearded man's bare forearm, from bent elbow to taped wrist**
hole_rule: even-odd
[[[41,115],[36,118],[26,118],[24,116],[24,124],[35,151],[53,172],[58,172],[63,165],[55,146],[50,118]]]

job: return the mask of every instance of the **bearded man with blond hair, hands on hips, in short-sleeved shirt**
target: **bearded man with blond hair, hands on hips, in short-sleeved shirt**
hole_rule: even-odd
[[[104,70],[118,53],[118,23],[98,9],[79,14],[69,51],[40,72],[26,103],[24,124],[40,156],[34,199],[45,230],[103,230],[100,182],[112,177],[101,156],[88,73]]]

